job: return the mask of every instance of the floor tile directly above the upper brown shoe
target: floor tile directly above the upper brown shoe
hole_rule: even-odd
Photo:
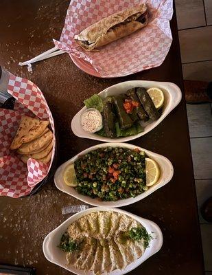
[[[182,73],[184,79],[212,81],[212,61],[182,64]]]

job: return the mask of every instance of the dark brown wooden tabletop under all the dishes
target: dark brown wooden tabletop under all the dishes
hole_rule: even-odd
[[[124,78],[102,79],[80,71],[68,54],[36,63],[32,74],[26,67],[19,67],[19,61],[54,47],[52,39],[60,38],[68,5],[69,0],[0,1],[0,65],[32,80],[43,91],[58,126],[58,165],[99,143],[75,137],[71,131],[71,119],[85,98],[115,83],[135,79],[169,81],[183,91],[176,14],[171,21],[172,47],[160,67]],[[161,124],[130,143],[165,155],[174,166],[169,184],[123,208],[157,223],[164,238],[161,250],[130,274],[203,274],[184,96]],[[37,274],[70,274],[45,259],[42,243],[51,230],[69,217],[62,214],[62,208],[79,203],[57,190],[53,179],[32,197],[1,197],[0,263],[36,267]]]

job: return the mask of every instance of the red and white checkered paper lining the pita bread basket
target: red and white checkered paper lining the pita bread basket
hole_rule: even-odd
[[[29,115],[40,120],[49,120],[53,132],[54,120],[42,92],[32,81],[10,75],[8,93],[16,101],[14,110],[0,108],[0,195],[16,198],[30,194],[34,186],[49,173],[54,159],[55,133],[49,164],[37,162],[35,159],[29,159],[27,165],[23,164],[16,154],[10,151],[10,144],[19,127],[21,116]]]

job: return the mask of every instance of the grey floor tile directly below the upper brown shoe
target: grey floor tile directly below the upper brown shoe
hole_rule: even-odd
[[[187,104],[186,107],[190,137],[212,136],[211,104]]]

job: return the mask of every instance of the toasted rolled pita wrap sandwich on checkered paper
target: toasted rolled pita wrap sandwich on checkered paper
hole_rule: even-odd
[[[91,51],[132,34],[145,27],[147,23],[147,5],[143,3],[94,23],[80,34],[75,35],[74,39],[84,50]]]

